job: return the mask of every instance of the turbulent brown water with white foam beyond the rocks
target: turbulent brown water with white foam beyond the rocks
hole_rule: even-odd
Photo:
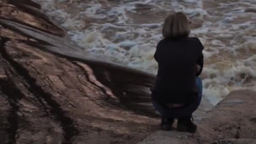
[[[183,11],[205,50],[203,95],[256,88],[256,0],[35,0],[72,43],[109,61],[156,74],[163,20]]]

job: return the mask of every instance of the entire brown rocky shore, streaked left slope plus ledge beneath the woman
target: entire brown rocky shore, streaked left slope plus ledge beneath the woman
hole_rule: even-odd
[[[141,144],[255,142],[253,91],[197,111],[196,134],[157,131],[159,116],[145,90],[154,79],[69,44],[37,3],[0,0],[1,143],[136,144],[147,136]]]

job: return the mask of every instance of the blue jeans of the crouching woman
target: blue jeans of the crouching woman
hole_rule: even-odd
[[[195,110],[199,107],[202,99],[203,84],[200,77],[196,77],[196,85],[199,89],[198,99],[197,101],[193,102],[192,104],[189,104],[186,107],[169,108],[168,106],[165,106],[165,105],[163,106],[163,105],[157,104],[157,102],[155,101],[152,101],[153,106],[158,112],[160,112],[160,114],[163,117],[180,118],[180,117],[192,116],[192,113],[195,112]]]

